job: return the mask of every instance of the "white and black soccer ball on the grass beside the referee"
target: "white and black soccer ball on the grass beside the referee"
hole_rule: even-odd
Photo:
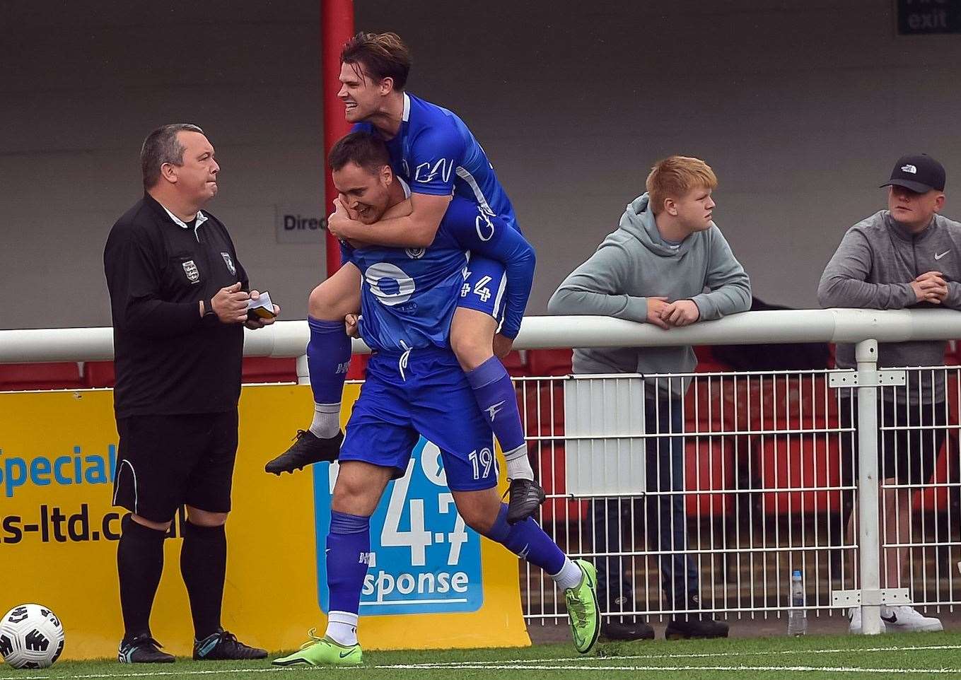
[[[0,654],[13,668],[47,668],[63,651],[63,626],[39,604],[13,607],[0,619]]]

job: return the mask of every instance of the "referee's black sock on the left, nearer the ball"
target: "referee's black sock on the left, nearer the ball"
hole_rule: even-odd
[[[163,571],[165,531],[134,522],[130,515],[120,522],[117,573],[120,576],[120,609],[124,640],[150,631],[150,610]]]

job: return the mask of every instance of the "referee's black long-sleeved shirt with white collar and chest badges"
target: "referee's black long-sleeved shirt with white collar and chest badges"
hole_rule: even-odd
[[[199,301],[247,274],[221,222],[185,229],[149,194],[117,220],[104,249],[111,294],[117,418],[221,413],[240,396],[243,326],[200,317]]]

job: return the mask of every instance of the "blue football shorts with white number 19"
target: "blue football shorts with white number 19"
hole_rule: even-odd
[[[493,434],[454,352],[431,348],[375,353],[339,459],[394,468],[396,479],[407,472],[420,435],[440,449],[453,491],[497,485]]]

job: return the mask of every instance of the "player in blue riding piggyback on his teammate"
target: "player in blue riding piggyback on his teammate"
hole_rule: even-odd
[[[410,55],[400,37],[357,34],[344,45],[341,61],[338,96],[347,120],[355,123],[355,131],[382,137],[394,174],[407,182],[411,197],[408,214],[377,223],[336,212],[329,221],[334,235],[383,246],[426,248],[452,197],[470,201],[483,216],[496,216],[517,229],[514,208],[463,121],[405,91]],[[508,521],[517,522],[537,511],[544,492],[533,479],[513,385],[498,359],[510,351],[524,314],[523,308],[504,309],[508,281],[501,262],[479,253],[471,256],[468,278],[458,293],[451,347],[505,452],[511,480]],[[314,418],[308,430],[298,432],[290,449],[267,464],[267,472],[292,472],[336,455],[341,442],[340,395],[350,361],[342,321],[347,307],[357,301],[354,286],[350,276],[337,273],[310,294],[307,353]]]

